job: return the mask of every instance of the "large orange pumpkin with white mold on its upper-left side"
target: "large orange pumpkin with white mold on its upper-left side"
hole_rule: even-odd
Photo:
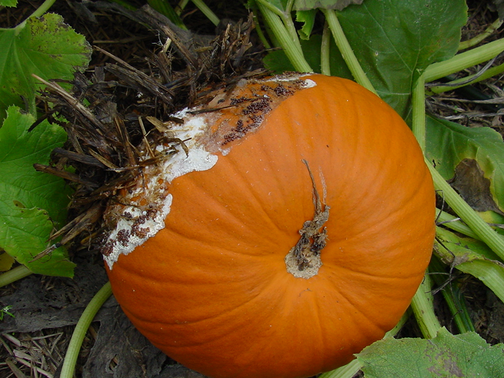
[[[434,190],[391,107],[290,74],[175,117],[106,216],[112,290],[141,333],[214,378],[280,378],[341,366],[397,324],[429,262]]]

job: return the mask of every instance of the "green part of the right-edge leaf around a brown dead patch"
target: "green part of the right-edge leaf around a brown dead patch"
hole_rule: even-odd
[[[476,160],[490,181],[493,200],[504,209],[504,143],[499,133],[490,128],[467,128],[445,119],[427,117],[426,156],[447,180],[454,176],[461,161]]]

